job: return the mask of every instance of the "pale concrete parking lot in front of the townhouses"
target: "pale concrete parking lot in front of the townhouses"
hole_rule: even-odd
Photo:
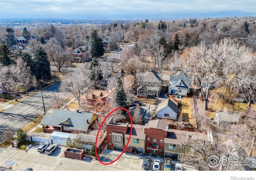
[[[27,167],[39,171],[56,171],[56,170],[134,170],[144,171],[141,167],[144,156],[136,154],[123,154],[116,162],[110,165],[101,164],[96,158],[76,160],[64,158],[66,147],[59,146],[53,154],[47,155],[44,152],[37,152],[39,144],[35,144],[27,152],[16,150],[15,148],[0,148],[0,166],[7,167],[5,162],[17,162],[12,166],[13,170],[24,170]],[[121,152],[104,150],[99,158],[102,162],[109,163],[115,160]],[[154,158],[152,158],[153,160]],[[163,162],[164,159],[161,160]],[[148,170],[152,170],[153,161],[150,162]],[[161,164],[160,170],[163,170],[164,163]]]

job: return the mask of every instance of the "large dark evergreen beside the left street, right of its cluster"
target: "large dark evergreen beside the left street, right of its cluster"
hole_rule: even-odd
[[[36,78],[38,80],[47,80],[51,78],[50,62],[47,59],[47,53],[42,47],[38,48],[34,54],[34,60],[38,64]]]

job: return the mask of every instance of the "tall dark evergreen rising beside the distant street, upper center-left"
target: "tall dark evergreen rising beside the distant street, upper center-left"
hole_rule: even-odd
[[[98,35],[97,30],[93,30],[91,33],[91,55],[92,58],[99,58],[104,55],[102,39]]]

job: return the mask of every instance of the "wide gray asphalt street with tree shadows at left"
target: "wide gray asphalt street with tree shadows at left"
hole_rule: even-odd
[[[59,85],[60,82],[57,82],[42,91],[46,111],[52,108],[50,104],[51,94],[54,91],[58,92]],[[42,94],[38,92],[0,112],[0,142],[6,139],[4,134],[15,134],[18,129],[23,128],[44,112]]]

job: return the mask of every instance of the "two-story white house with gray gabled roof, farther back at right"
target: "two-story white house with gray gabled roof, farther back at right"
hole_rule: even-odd
[[[180,71],[177,74],[170,75],[170,86],[169,94],[171,95],[181,95],[182,97],[187,97],[190,93],[190,83],[192,78],[186,76],[184,72]]]

